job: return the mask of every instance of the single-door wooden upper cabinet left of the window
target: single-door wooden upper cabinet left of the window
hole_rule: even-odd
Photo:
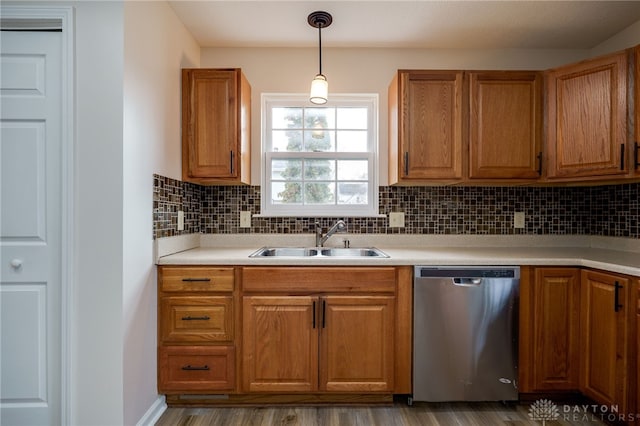
[[[251,86],[240,69],[182,70],[182,179],[250,184]]]

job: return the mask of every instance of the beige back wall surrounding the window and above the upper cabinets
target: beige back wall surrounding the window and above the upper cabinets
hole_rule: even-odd
[[[338,49],[322,51],[330,93],[379,94],[380,185],[387,184],[387,89],[397,69],[533,69],[582,60],[585,50]],[[315,48],[204,48],[202,67],[240,67],[252,88],[251,183],[260,184],[260,96],[306,93],[318,72]]]

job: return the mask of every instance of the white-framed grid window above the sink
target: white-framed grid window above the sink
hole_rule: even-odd
[[[377,95],[262,101],[262,215],[378,216]]]

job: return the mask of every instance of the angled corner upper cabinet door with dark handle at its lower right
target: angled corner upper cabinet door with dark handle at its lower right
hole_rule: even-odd
[[[627,53],[551,70],[549,178],[627,173]]]

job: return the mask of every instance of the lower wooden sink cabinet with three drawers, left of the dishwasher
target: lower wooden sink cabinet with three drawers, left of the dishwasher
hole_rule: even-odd
[[[160,266],[158,391],[169,404],[409,394],[412,278],[409,266]]]

